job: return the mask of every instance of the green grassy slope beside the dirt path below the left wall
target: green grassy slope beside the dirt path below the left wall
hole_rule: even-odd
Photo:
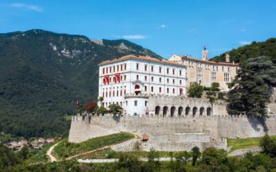
[[[94,149],[104,147],[110,144],[116,144],[134,138],[131,133],[116,133],[109,136],[103,136],[99,138],[92,138],[86,142],[70,143],[68,140],[62,140],[57,147],[55,147],[55,155],[59,158],[68,158],[72,155],[77,155],[86,151],[92,151]]]

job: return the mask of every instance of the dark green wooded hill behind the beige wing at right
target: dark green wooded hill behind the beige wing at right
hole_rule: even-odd
[[[250,45],[244,45],[233,49],[230,52],[230,61],[241,63],[248,58],[255,58],[258,56],[270,56],[276,63],[276,38],[271,38],[263,42],[255,42]],[[220,56],[215,56],[212,61],[225,61],[225,53]]]

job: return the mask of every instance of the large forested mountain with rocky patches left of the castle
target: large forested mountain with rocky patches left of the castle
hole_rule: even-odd
[[[126,54],[161,58],[126,40],[28,30],[0,34],[0,131],[53,136],[68,131],[64,114],[96,99],[98,64]]]

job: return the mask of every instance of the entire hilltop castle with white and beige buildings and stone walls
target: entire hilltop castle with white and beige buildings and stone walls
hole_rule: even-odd
[[[238,64],[208,61],[204,47],[202,60],[174,54],[169,60],[128,55],[99,64],[100,106],[117,104],[122,116],[111,114],[72,117],[69,141],[83,142],[89,138],[126,131],[135,138],[114,146],[116,151],[132,151],[139,144],[142,151],[184,151],[217,147],[227,149],[225,138],[248,138],[276,135],[276,116],[253,118],[229,116],[222,100],[188,98],[191,83],[220,88],[236,75]],[[275,89],[273,89],[275,92]],[[148,140],[142,141],[146,134]]]

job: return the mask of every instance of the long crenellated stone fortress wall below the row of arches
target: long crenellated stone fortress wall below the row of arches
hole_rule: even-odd
[[[106,136],[121,131],[134,133],[140,138],[115,146],[116,151],[131,151],[135,144],[143,151],[184,151],[217,147],[226,149],[225,138],[248,138],[276,135],[276,116],[252,118],[246,116],[80,116],[72,118],[69,142],[83,142],[89,138]],[[141,136],[149,136],[147,142]]]

